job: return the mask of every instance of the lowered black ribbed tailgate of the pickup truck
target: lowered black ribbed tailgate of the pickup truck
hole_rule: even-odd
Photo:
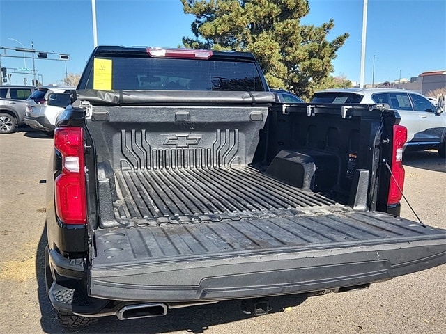
[[[446,262],[446,231],[380,212],[296,209],[95,231],[91,296],[238,299],[353,287]]]

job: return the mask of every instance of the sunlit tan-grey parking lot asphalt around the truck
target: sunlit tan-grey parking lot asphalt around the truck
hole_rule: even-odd
[[[45,178],[52,138],[20,127],[0,136],[0,331],[73,333],[45,297]],[[435,151],[404,154],[404,193],[426,225],[446,228],[446,164]],[[404,218],[415,214],[403,202]],[[238,301],[172,310],[165,317],[99,324],[75,333],[446,333],[446,265],[325,296],[282,296],[252,317]]]

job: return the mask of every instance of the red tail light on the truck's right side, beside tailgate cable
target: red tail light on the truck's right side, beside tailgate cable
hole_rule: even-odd
[[[403,167],[403,145],[407,141],[407,129],[402,125],[393,127],[393,147],[392,147],[392,175],[390,177],[388,205],[399,203],[403,196],[404,167]]]

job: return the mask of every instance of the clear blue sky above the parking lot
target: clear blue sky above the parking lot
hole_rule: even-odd
[[[410,79],[432,70],[446,70],[445,0],[369,0],[364,81]],[[360,80],[363,0],[310,0],[302,24],[321,25],[334,19],[332,40],[348,32],[350,38],[333,61],[334,75]],[[68,73],[80,73],[93,49],[91,0],[0,0],[0,47],[31,48],[70,54],[70,61],[36,59],[43,84],[60,84]],[[180,0],[96,0],[99,45],[176,47],[192,36],[194,17],[183,13]],[[16,42],[15,39],[18,42]],[[19,43],[20,42],[20,43]],[[20,58],[4,57],[3,67],[24,67]],[[11,55],[22,53],[9,52]],[[51,58],[51,57],[50,57]],[[66,65],[66,66],[65,66]],[[32,67],[32,60],[26,60]],[[13,74],[12,84],[23,84]],[[29,84],[32,76],[28,75]]]

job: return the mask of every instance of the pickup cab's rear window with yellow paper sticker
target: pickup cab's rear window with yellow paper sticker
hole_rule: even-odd
[[[95,58],[85,88],[263,91],[254,63],[170,58]]]

